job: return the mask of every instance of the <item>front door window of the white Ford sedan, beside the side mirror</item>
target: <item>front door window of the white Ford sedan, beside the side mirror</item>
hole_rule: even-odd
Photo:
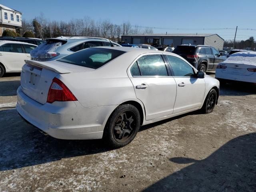
[[[174,73],[174,76],[194,76],[193,68],[184,60],[171,55],[166,55],[166,57],[172,67],[172,72]]]

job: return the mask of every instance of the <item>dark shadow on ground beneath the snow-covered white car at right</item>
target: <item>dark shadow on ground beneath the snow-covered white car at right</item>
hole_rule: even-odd
[[[220,84],[221,96],[246,96],[256,94],[256,84],[228,82]]]

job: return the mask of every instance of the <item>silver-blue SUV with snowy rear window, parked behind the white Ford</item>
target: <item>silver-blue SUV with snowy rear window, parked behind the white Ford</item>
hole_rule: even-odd
[[[58,37],[48,38],[30,52],[32,60],[51,61],[82,49],[98,46],[120,46],[106,38],[99,37]]]

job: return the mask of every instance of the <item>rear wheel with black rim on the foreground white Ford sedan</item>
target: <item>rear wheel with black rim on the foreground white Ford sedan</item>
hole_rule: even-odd
[[[129,144],[140,128],[140,112],[131,104],[118,106],[111,114],[104,129],[103,138],[111,147]]]

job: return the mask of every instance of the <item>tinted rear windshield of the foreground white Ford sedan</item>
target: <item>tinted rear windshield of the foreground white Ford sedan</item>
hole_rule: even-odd
[[[125,52],[113,49],[88,48],[58,59],[57,61],[97,69],[123,53]]]

